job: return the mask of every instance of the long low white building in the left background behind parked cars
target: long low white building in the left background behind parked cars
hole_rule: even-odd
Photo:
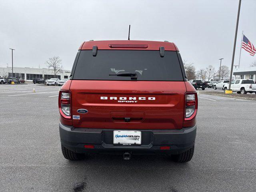
[[[22,78],[25,81],[32,81],[36,78],[50,79],[50,78],[59,78],[67,79],[70,76],[70,70],[62,70],[61,73],[58,73],[54,76],[54,71],[48,68],[29,68],[29,67],[14,67],[13,68],[13,77]],[[12,77],[12,67],[0,67],[0,76],[8,75]]]

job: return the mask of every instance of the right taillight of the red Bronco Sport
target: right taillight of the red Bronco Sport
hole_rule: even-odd
[[[185,120],[191,120],[196,116],[197,111],[197,94],[196,93],[186,93],[185,95]]]

